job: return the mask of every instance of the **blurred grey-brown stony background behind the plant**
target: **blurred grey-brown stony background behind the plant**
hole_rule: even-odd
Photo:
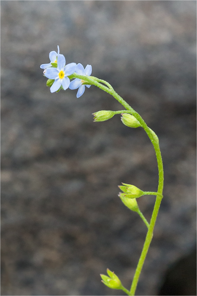
[[[157,190],[143,129],[93,123],[122,109],[113,97],[50,93],[40,65],[57,45],[160,139],[164,198],[136,295],[196,295],[188,260],[173,273],[181,290],[159,292],[196,245],[196,1],[1,1],[1,295],[124,295],[99,274],[130,287],[146,226],[117,185]],[[154,201],[138,199],[148,221]]]

